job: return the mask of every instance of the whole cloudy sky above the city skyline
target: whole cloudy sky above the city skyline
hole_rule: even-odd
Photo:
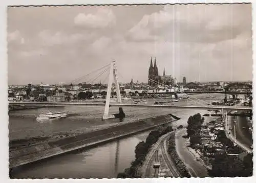
[[[9,7],[9,84],[69,83],[111,60],[120,82],[146,82],[151,57],[178,81],[252,80],[251,21],[249,4]]]

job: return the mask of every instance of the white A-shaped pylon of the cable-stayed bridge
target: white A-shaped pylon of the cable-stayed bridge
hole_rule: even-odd
[[[103,114],[103,117],[102,117],[103,119],[120,118],[120,117],[124,118],[124,116],[125,116],[121,107],[119,107],[119,113],[118,114],[109,115],[110,97],[111,97],[111,89],[112,89],[113,78],[114,78],[116,94],[117,94],[117,102],[121,104],[122,99],[121,99],[121,93],[120,93],[118,78],[117,78],[117,71],[116,71],[115,61],[111,61],[111,63],[110,63],[110,75],[109,75],[108,90],[106,92],[105,110],[104,110],[104,114]]]

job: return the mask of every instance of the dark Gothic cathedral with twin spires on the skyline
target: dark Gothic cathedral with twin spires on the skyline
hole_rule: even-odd
[[[153,67],[153,62],[151,58],[150,62],[150,68],[148,69],[148,85],[150,86],[156,86],[157,83],[162,83],[165,85],[173,85],[174,79],[172,75],[165,75],[165,69],[163,68],[163,76],[158,75],[158,68],[157,68],[157,62],[155,58],[155,63]]]

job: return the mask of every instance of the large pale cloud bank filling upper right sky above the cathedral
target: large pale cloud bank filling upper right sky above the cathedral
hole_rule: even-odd
[[[166,5],[144,15],[127,37],[134,41],[202,43],[232,39],[251,26],[250,20],[244,20],[248,13],[241,15],[241,9],[250,12],[247,5]]]

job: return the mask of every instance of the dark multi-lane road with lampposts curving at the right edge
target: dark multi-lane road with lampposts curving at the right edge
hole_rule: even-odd
[[[234,122],[236,121],[236,122]],[[236,126],[236,141],[234,139],[234,126]],[[231,127],[231,130],[230,130]],[[248,129],[248,124],[245,117],[227,117],[227,134],[233,142],[236,142],[238,146],[252,152],[250,146],[252,145],[252,136]]]

